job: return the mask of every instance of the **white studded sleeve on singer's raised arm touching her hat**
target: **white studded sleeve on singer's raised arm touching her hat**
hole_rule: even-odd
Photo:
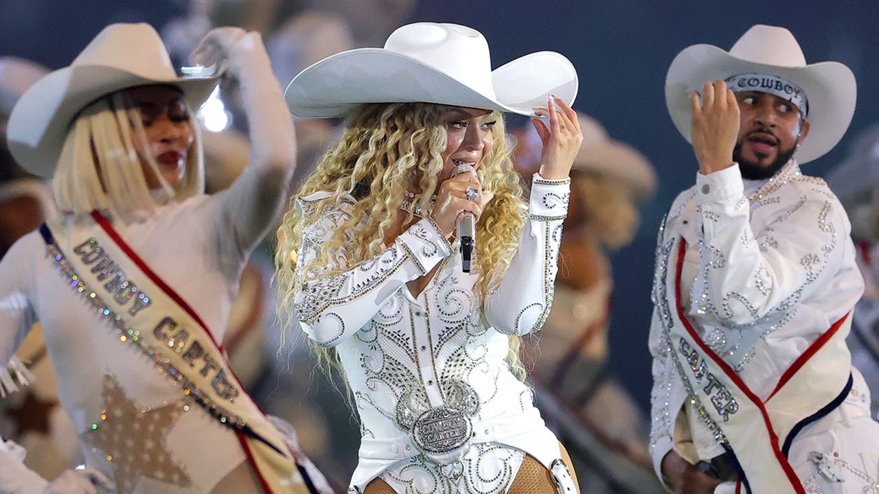
[[[485,317],[496,330],[524,335],[540,330],[546,322],[569,199],[570,178],[546,180],[534,174],[519,247],[498,289],[485,300]]]

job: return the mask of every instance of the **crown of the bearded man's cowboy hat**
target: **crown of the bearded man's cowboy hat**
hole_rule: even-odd
[[[730,48],[736,58],[776,67],[805,67],[806,57],[793,33],[774,25],[754,25]]]

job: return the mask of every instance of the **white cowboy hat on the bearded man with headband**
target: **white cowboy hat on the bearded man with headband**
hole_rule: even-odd
[[[783,27],[754,25],[729,53],[712,45],[686,47],[665,77],[665,104],[680,134],[690,142],[689,95],[705,81],[740,74],[779,76],[796,84],[809,100],[809,137],[796,152],[799,163],[823,156],[842,139],[854,114],[854,74],[839,62],[806,64],[794,35]]]

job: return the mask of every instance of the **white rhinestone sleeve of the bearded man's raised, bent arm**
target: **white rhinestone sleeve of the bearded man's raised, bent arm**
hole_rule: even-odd
[[[839,201],[803,188],[755,236],[743,191],[737,165],[697,174],[700,270],[693,293],[708,294],[713,313],[726,324],[752,323],[785,307],[792,297],[816,294],[825,287],[816,280],[843,267],[848,235]]]

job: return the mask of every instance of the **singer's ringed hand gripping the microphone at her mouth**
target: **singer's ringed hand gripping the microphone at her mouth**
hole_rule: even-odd
[[[468,187],[475,187],[479,194],[475,200],[467,197]],[[439,229],[451,237],[462,214],[471,213],[476,222],[483,214],[483,207],[494,197],[493,193],[482,192],[479,178],[475,171],[465,171],[439,185],[437,200],[433,203],[431,217],[437,223]]]

